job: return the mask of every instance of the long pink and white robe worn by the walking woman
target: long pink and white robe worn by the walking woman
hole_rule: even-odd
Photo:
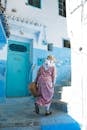
[[[46,63],[47,61],[39,68],[36,77],[38,94],[40,95],[36,103],[40,106],[50,105],[54,94],[56,69],[54,66],[49,66]]]

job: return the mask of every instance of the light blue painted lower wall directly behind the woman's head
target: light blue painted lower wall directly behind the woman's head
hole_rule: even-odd
[[[71,49],[54,47],[53,51],[46,51],[42,49],[33,50],[33,64],[35,65],[33,72],[33,79],[40,65],[42,65],[47,55],[54,55],[57,59],[57,79],[58,86],[68,86],[71,83]]]

